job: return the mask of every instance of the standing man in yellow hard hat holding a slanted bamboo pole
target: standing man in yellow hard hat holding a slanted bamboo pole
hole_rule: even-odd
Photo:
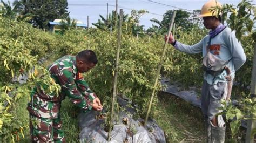
[[[203,53],[204,82],[201,95],[201,108],[207,122],[208,142],[225,141],[225,122],[219,107],[221,100],[228,100],[231,95],[232,80],[246,60],[244,49],[230,28],[221,24],[221,16],[210,9],[221,6],[218,1],[210,0],[201,9],[204,26],[210,29],[208,35],[194,45],[185,45],[174,39],[168,40],[177,50],[186,53]]]

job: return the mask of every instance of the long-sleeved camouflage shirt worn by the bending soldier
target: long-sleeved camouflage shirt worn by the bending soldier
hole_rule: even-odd
[[[31,114],[41,118],[57,118],[60,103],[68,96],[73,104],[83,111],[91,110],[91,101],[97,96],[93,93],[82,73],[76,67],[75,56],[64,56],[56,60],[50,67],[51,77],[62,88],[59,96],[56,93],[45,94],[41,85],[36,85],[31,92],[28,110]],[[47,85],[43,86],[46,88]]]

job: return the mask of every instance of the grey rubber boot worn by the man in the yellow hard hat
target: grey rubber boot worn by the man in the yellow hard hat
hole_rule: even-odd
[[[224,143],[226,127],[215,127],[211,123],[208,127],[207,142],[208,143]]]

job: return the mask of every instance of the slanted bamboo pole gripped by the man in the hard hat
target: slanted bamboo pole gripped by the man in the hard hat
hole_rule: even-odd
[[[169,36],[170,36],[171,30],[172,30],[172,26],[173,26],[173,22],[174,22],[175,16],[176,16],[176,11],[174,11],[174,12],[173,12],[173,15],[172,15],[172,20],[171,20],[171,23],[170,23],[170,27],[169,27],[167,39],[169,39]],[[150,114],[152,102],[153,102],[153,99],[154,99],[154,92],[156,92],[156,87],[157,87],[157,83],[158,83],[158,78],[159,78],[161,66],[162,66],[162,64],[163,64],[163,59],[164,59],[164,56],[165,56],[165,51],[166,51],[166,45],[167,45],[167,43],[168,43],[168,40],[166,40],[166,42],[164,43],[163,52],[162,52],[162,55],[161,55],[161,57],[160,57],[160,62],[159,62],[158,67],[157,67],[156,80],[154,81],[153,92],[152,92],[152,95],[151,95],[151,99],[150,99],[150,103],[149,103],[149,108],[147,109],[147,115],[146,115],[146,119],[145,119],[145,124],[144,124],[144,126],[146,126],[146,124],[147,124],[147,119],[149,118],[149,114]]]

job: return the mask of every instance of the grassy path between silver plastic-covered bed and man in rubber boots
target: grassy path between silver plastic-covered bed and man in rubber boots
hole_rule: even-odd
[[[167,142],[206,142],[203,115],[197,107],[167,93],[160,93],[155,119]]]

